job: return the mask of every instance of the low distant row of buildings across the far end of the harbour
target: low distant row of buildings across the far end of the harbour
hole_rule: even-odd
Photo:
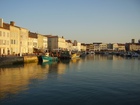
[[[135,43],[132,39],[131,43],[92,43],[86,44],[87,51],[140,51],[140,40]]]

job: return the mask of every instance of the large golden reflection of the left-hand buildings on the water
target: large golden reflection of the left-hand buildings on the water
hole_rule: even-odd
[[[48,65],[43,68],[36,63],[25,64],[19,68],[0,69],[0,98],[28,89],[32,79],[46,79],[48,70]]]

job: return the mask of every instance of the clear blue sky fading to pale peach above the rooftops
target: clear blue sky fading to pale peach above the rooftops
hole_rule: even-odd
[[[140,0],[1,0],[0,18],[82,43],[140,39]]]

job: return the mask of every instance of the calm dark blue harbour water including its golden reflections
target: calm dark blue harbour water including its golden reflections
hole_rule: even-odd
[[[140,59],[88,55],[0,68],[0,105],[140,105]]]

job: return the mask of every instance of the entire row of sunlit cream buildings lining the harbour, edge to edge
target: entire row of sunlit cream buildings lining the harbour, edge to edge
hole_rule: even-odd
[[[3,22],[0,19],[0,55],[13,54],[32,54],[40,50],[68,50],[68,51],[102,51],[102,50],[140,50],[139,43],[126,44],[105,44],[92,43],[85,44],[74,40],[66,40],[63,36],[42,35],[35,32],[30,32],[28,29],[15,25],[14,21],[10,23]]]

